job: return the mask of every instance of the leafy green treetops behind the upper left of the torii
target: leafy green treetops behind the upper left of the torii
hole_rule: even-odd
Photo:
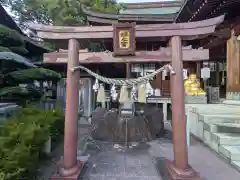
[[[19,18],[20,25],[37,22],[53,25],[86,25],[82,5],[93,10],[118,13],[116,0],[0,0]]]

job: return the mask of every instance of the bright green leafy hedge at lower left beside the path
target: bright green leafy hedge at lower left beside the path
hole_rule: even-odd
[[[63,134],[64,117],[59,110],[24,108],[18,117],[0,128],[0,180],[36,179],[42,149],[48,137]]]

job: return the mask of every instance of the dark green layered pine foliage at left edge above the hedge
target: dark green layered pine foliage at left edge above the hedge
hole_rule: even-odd
[[[55,71],[38,68],[24,55],[25,42],[18,32],[0,26],[0,99],[25,104],[26,100],[39,100],[43,89],[33,87],[35,80],[56,82],[61,75]],[[23,56],[22,56],[23,55]],[[20,84],[32,85],[20,86]]]

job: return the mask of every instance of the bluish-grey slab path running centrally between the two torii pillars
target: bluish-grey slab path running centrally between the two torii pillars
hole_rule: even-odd
[[[160,180],[147,144],[132,149],[114,149],[112,143],[98,143],[92,151],[81,180]],[[94,155],[95,154],[95,155]]]

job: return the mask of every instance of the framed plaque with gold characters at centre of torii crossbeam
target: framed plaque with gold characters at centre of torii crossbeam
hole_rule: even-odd
[[[135,55],[136,23],[117,23],[113,25],[113,55]]]

